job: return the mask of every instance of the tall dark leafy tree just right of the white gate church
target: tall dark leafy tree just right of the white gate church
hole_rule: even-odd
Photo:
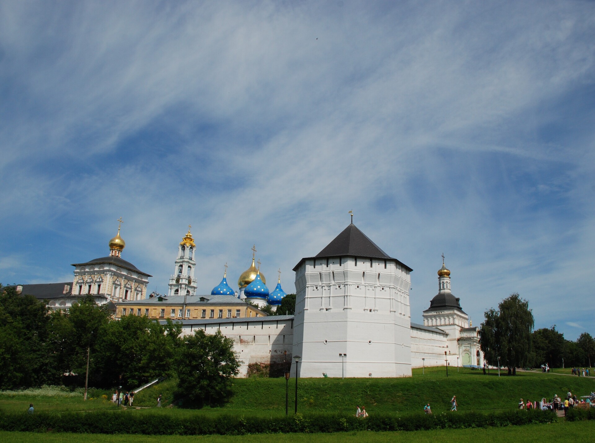
[[[498,305],[486,311],[486,321],[481,324],[480,346],[484,354],[500,357],[500,364],[508,367],[509,375],[516,375],[516,368],[528,364],[531,355],[531,329],[533,313],[529,302],[518,293],[511,294]],[[485,349],[484,349],[485,347]]]

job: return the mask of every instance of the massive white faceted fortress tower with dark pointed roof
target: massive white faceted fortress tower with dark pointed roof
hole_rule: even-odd
[[[411,376],[410,267],[351,223],[293,270],[300,377]]]

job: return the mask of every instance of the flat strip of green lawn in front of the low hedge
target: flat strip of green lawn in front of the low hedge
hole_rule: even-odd
[[[524,443],[543,441],[590,441],[595,433],[595,422],[552,423],[548,425],[508,426],[507,428],[440,429],[415,432],[338,432],[332,434],[284,434],[284,435],[241,435],[241,436],[148,436],[148,435],[98,435],[71,433],[0,432],[4,443],[31,442],[159,442],[159,443],[261,443],[282,439],[284,443],[362,443],[393,442],[407,439],[416,443],[469,442],[501,443],[522,441]]]

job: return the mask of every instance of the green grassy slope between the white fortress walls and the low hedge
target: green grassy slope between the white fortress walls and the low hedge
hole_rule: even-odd
[[[565,377],[554,374],[518,373],[515,377],[497,373],[484,376],[481,371],[450,370],[444,368],[414,370],[412,378],[403,379],[299,379],[299,411],[355,411],[355,405],[365,405],[368,413],[419,411],[430,402],[435,412],[450,410],[450,398],[457,396],[459,410],[510,409],[519,398],[538,401],[554,394],[565,395],[571,390],[585,395],[595,389],[595,378]],[[174,383],[161,383],[145,394],[155,404],[156,395],[171,398]],[[293,410],[295,379],[289,380],[289,409]],[[145,404],[143,392],[135,399],[136,405]],[[249,378],[233,382],[233,396],[222,408],[204,408],[203,413],[261,414],[284,413],[285,379]]]

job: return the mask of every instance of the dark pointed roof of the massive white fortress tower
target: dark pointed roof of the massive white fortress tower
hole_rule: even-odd
[[[367,235],[358,229],[355,224],[351,223],[343,231],[337,235],[322,251],[318,252],[315,257],[306,258],[327,258],[327,257],[365,257],[365,258],[380,258],[384,260],[394,260],[401,266],[411,272],[411,269],[406,264],[403,264],[396,258],[390,257],[386,252],[371,241]],[[300,263],[293,268],[295,271],[297,267],[306,258],[302,258]]]

